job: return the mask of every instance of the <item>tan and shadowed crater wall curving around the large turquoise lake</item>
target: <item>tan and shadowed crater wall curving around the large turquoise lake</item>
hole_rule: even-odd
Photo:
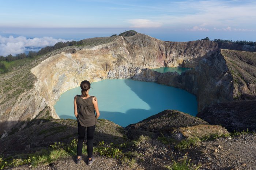
[[[11,106],[0,106],[0,134],[10,131],[18,120],[35,118],[45,108],[50,116],[58,118],[53,106],[60,95],[79,86],[85,79],[95,82],[102,79],[133,78],[182,88],[197,95],[200,111],[208,105],[233,99],[233,89],[236,87],[233,86],[232,74],[220,49],[256,51],[255,46],[204,40],[166,42],[139,33],[131,37],[86,39],[83,43],[84,46],[56,50],[48,54],[48,57],[38,60],[43,60],[40,64],[36,63],[35,67],[30,67],[34,74],[32,76],[36,77],[33,79],[31,92],[18,94],[17,100],[13,100]],[[178,66],[193,69],[181,75],[148,70]],[[248,88],[250,91],[255,87],[254,84],[251,81]],[[4,92],[1,95],[5,95]],[[24,105],[26,95],[29,97],[26,97],[27,104]],[[26,116],[23,113],[26,113]],[[8,126],[5,123],[7,120],[12,122],[9,122]]]

